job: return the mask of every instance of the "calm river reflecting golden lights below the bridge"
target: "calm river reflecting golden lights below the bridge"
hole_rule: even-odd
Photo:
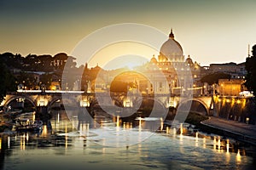
[[[236,141],[214,134],[186,134],[189,127],[183,127],[183,134],[171,127],[151,133],[132,127],[130,123],[125,126],[106,123],[96,128],[82,123],[78,131],[73,121],[62,114],[55,114],[44,125],[42,133],[3,135],[0,141],[0,168],[64,170],[255,167],[252,156],[255,150],[251,147],[236,146]]]

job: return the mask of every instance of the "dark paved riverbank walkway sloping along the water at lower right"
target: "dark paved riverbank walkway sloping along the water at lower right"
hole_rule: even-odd
[[[247,144],[256,145],[256,125],[211,116],[209,119],[202,121],[200,127],[207,133],[216,133]]]

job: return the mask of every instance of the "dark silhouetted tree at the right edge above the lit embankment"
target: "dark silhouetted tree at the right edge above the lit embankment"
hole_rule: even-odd
[[[247,57],[246,70],[247,77],[245,85],[249,91],[253,91],[254,96],[256,95],[256,44],[253,46],[253,55]]]

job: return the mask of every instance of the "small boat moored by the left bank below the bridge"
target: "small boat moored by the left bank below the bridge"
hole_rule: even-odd
[[[16,121],[15,130],[17,132],[33,132],[38,133],[42,130],[43,122],[35,121],[31,123],[29,119],[18,119]]]

